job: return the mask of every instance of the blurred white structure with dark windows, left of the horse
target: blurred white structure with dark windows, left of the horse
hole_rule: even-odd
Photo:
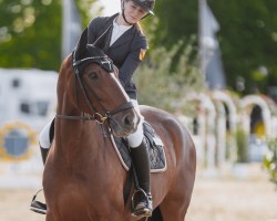
[[[54,116],[58,73],[0,69],[0,127],[11,120],[40,130]]]

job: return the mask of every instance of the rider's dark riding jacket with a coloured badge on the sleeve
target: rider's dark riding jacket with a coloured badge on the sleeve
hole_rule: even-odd
[[[98,17],[93,19],[88,27],[88,43],[93,44],[110,28],[107,34],[105,34],[106,38],[103,44],[104,53],[119,69],[120,82],[127,95],[136,99],[136,87],[132,82],[132,76],[146,52],[146,38],[135,24],[110,46],[112,25],[117,15],[119,13],[112,17]]]

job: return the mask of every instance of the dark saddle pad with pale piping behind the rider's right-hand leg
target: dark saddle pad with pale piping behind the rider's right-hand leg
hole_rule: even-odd
[[[147,122],[143,123],[143,131],[150,156],[151,172],[165,171],[166,158],[162,139]],[[127,141],[124,138],[115,136],[111,136],[111,140],[122,166],[129,171],[132,165],[132,159]]]

